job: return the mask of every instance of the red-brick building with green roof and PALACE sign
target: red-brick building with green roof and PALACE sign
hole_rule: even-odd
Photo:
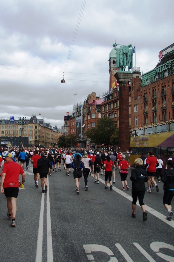
[[[162,55],[161,55],[162,54]],[[159,52],[156,67],[131,81],[131,129],[174,118],[174,44]]]

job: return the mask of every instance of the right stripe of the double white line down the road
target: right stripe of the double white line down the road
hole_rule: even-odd
[[[53,246],[52,246],[52,234],[51,234],[51,215],[50,215],[50,202],[49,202],[49,179],[48,191],[47,191],[47,261],[53,262]]]

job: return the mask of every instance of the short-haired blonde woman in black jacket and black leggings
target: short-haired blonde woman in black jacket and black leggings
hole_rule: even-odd
[[[143,160],[141,158],[135,159],[135,169],[131,171],[130,179],[132,181],[132,217],[135,218],[135,210],[137,197],[141,209],[143,210],[143,221],[147,220],[147,213],[145,212],[145,204],[143,203],[145,195],[145,182],[148,181],[147,171],[143,169]]]

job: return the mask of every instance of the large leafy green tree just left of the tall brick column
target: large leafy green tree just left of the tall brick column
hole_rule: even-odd
[[[110,138],[114,132],[114,122],[109,117],[100,118],[95,128],[90,128],[86,134],[95,144],[110,144]]]

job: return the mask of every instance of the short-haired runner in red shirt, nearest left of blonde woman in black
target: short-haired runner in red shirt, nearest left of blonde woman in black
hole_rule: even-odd
[[[118,156],[117,156],[118,157]],[[129,187],[127,185],[127,175],[128,175],[128,167],[130,167],[129,163],[125,160],[126,156],[122,155],[122,161],[118,164],[118,169],[120,169],[120,177],[121,177],[121,184],[123,186],[122,190],[125,190],[124,183],[127,187],[127,190],[129,190]]]

